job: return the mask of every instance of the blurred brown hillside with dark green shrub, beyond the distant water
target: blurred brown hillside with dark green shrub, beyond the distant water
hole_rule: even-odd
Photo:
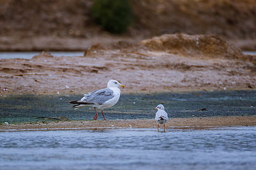
[[[161,34],[256,50],[256,0],[0,0],[0,51],[83,51]]]

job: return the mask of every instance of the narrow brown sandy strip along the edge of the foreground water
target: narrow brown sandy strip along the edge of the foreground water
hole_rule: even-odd
[[[166,128],[195,128],[210,127],[256,126],[256,117],[212,117],[212,118],[174,118],[166,122]],[[34,124],[1,124],[0,131],[6,130],[54,130],[64,128],[154,128],[155,119],[118,119],[118,120],[89,120],[89,121],[59,121]]]

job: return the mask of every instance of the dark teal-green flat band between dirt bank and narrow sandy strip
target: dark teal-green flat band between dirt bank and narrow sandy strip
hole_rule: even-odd
[[[0,123],[92,120],[93,108],[74,110],[66,103],[81,97],[6,95],[0,97]],[[153,119],[156,113],[153,109],[160,103],[169,118],[256,116],[256,90],[121,94],[118,103],[104,109],[104,114],[106,119]],[[98,119],[103,119],[98,112]]]

